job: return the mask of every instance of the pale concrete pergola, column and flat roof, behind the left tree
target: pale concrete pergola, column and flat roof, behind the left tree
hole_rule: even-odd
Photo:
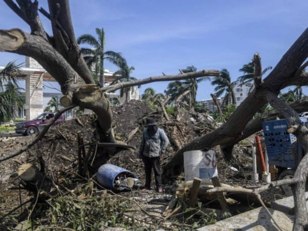
[[[0,70],[3,68],[0,66]],[[104,70],[106,82],[121,78],[121,76],[112,76],[113,73],[113,71]],[[26,80],[26,120],[32,120],[43,113],[43,81],[56,81],[31,57],[26,57],[26,67],[21,67],[18,73],[13,73],[13,76],[17,80]]]

